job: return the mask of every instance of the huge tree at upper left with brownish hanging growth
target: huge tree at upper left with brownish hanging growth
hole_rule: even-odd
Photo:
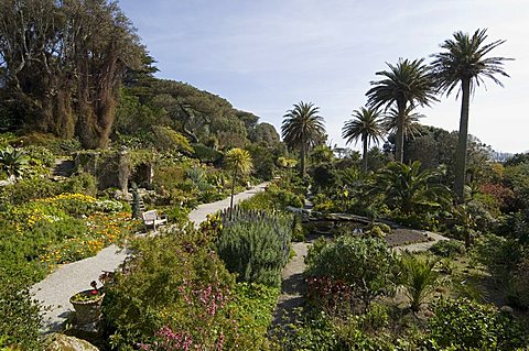
[[[0,79],[18,123],[106,146],[119,87],[143,48],[107,0],[0,0]]]

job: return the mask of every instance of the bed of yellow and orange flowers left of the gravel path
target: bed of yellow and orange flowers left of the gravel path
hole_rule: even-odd
[[[0,251],[4,266],[18,267],[35,282],[57,264],[95,255],[138,224],[115,200],[61,194],[0,212]]]

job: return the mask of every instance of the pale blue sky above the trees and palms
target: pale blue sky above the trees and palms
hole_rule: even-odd
[[[497,151],[529,150],[527,0],[121,0],[161,78],[188,83],[256,113],[280,131],[293,103],[312,101],[330,142],[366,102],[369,81],[399,57],[427,57],[454,31],[488,28],[514,57],[505,88],[487,83],[469,131]],[[457,130],[455,95],[421,110],[422,123]]]

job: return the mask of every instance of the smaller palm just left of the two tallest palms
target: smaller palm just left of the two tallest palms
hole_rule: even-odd
[[[367,172],[367,146],[371,141],[379,143],[384,138],[382,127],[380,125],[381,112],[376,109],[360,107],[359,110],[353,111],[355,119],[345,122],[342,129],[342,138],[345,138],[345,143],[357,142],[361,140],[364,171]]]

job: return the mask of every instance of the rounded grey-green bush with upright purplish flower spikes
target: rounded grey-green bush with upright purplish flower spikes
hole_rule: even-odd
[[[224,223],[216,243],[218,255],[238,282],[279,286],[290,253],[292,219],[252,212],[235,216],[233,222]]]

